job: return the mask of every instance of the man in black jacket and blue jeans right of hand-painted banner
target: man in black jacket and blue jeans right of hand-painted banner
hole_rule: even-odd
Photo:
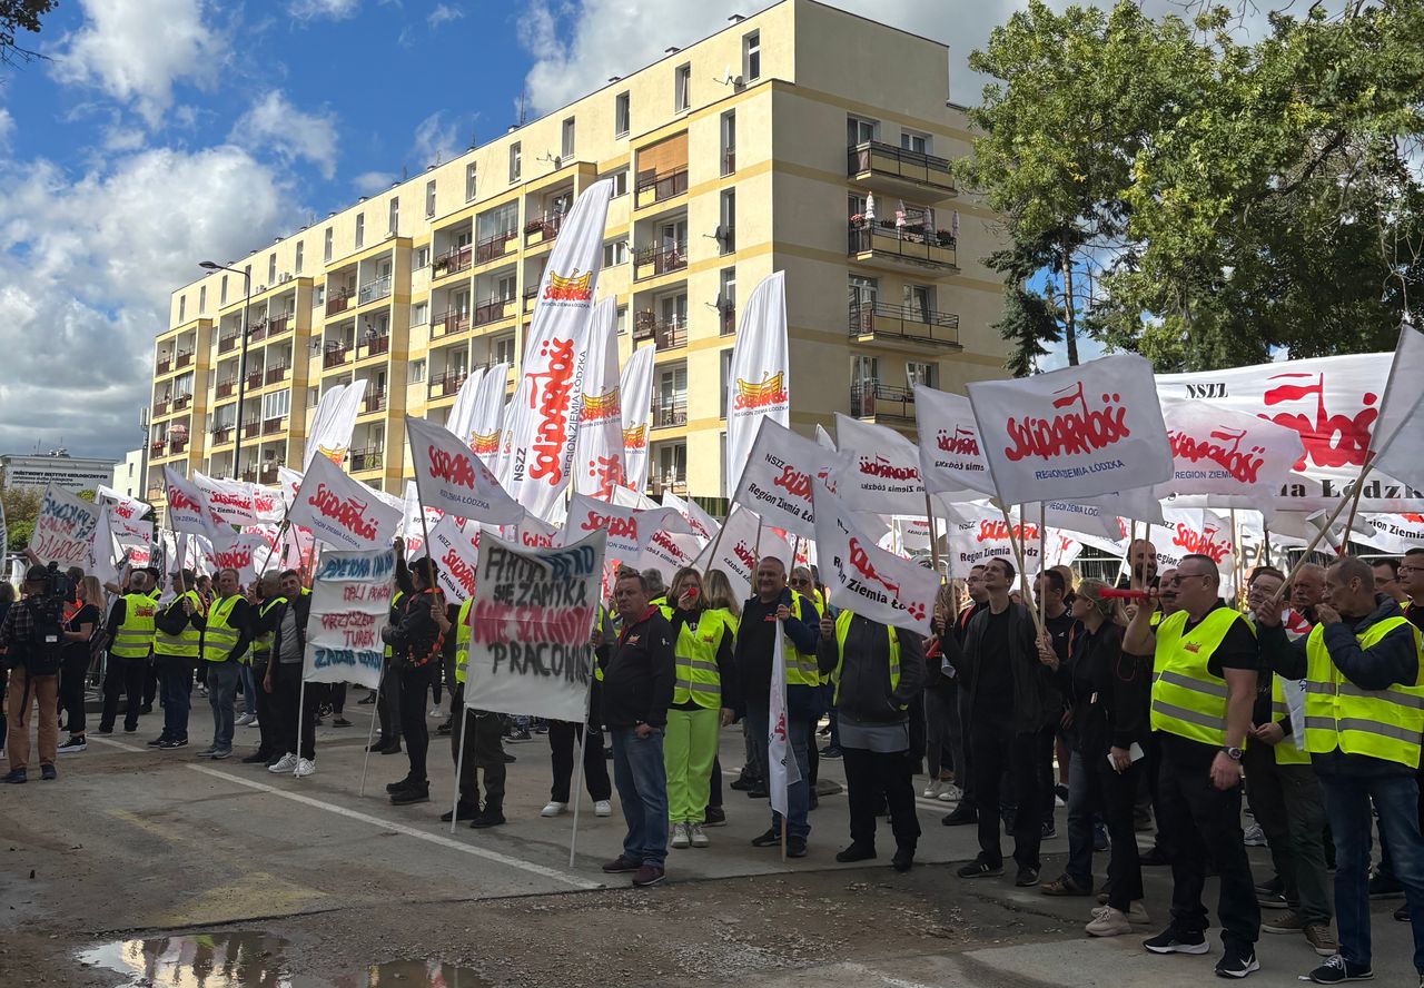
[[[614,784],[628,836],[624,850],[604,866],[608,874],[634,873],[638,888],[664,878],[668,857],[668,773],[662,733],[676,683],[672,626],[648,602],[648,581],[635,571],[618,574],[614,604],[622,631],[604,671],[604,720],[614,743]]]

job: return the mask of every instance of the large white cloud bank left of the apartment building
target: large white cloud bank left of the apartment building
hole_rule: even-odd
[[[78,178],[0,162],[0,451],[138,446],[169,292],[298,212],[276,172],[231,145],[150,148]]]

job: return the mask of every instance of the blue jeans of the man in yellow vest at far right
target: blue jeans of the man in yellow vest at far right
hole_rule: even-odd
[[[1336,924],[1340,952],[1370,967],[1370,800],[1380,833],[1390,841],[1394,874],[1404,885],[1414,927],[1414,969],[1424,972],[1424,837],[1420,837],[1418,782],[1414,776],[1321,774],[1326,813],[1336,841]]]

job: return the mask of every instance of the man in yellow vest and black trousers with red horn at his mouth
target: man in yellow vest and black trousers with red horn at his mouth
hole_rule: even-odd
[[[1153,954],[1205,954],[1206,863],[1220,871],[1216,914],[1223,978],[1260,969],[1260,905],[1242,834],[1242,749],[1250,730],[1260,652],[1245,615],[1220,599],[1222,577],[1206,555],[1185,555],[1172,577],[1182,609],[1152,628],[1138,608],[1122,638],[1128,655],[1153,656],[1152,730],[1161,766],[1158,837],[1172,861],[1172,920],[1143,942]]]

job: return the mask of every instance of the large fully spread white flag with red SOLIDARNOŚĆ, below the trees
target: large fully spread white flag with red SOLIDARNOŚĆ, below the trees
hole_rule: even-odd
[[[1152,364],[1135,354],[968,386],[1002,504],[1077,500],[1172,478]]]

